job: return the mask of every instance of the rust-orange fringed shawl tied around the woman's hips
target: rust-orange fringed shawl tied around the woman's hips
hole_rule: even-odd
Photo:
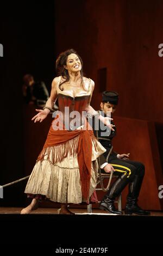
[[[54,119],[55,120],[55,119]],[[53,124],[53,122],[52,122]],[[90,125],[85,122],[87,128]],[[85,126],[84,126],[85,127]],[[78,137],[79,136],[79,137]],[[76,139],[78,137],[78,139]],[[73,139],[74,143],[68,143]],[[61,150],[53,151],[53,164],[58,161],[62,161],[68,153],[70,155],[77,154],[80,180],[82,185],[82,196],[86,201],[89,200],[89,188],[91,179],[91,157],[92,157],[92,140],[96,143],[96,138],[93,135],[92,130],[54,130],[53,125],[49,129],[48,136],[43,146],[43,149],[37,158],[37,161],[42,161],[43,157],[48,152],[48,158],[50,154],[50,147],[61,145]],[[47,150],[49,149],[49,151]]]

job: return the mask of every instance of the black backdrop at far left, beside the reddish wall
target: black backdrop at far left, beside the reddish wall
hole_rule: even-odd
[[[1,3],[0,19],[0,44],[3,44],[4,51],[4,57],[0,58],[0,185],[3,185],[22,178],[33,155],[32,150],[28,156],[24,155],[28,135],[24,134],[27,129],[23,122],[26,117],[23,112],[22,77],[27,73],[33,74],[35,80],[46,83],[50,92],[55,76],[54,1],[5,1],[5,5]],[[34,140],[30,141],[31,147],[34,144]],[[21,182],[5,188],[0,205],[22,206],[24,187]]]

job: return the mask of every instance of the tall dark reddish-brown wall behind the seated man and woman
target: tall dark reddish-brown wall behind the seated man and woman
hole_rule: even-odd
[[[101,101],[97,70],[106,67],[107,89],[120,93],[121,117],[163,122],[162,1],[56,3],[56,52],[75,48],[86,76],[96,82],[92,105]],[[95,101],[96,99],[96,101]]]

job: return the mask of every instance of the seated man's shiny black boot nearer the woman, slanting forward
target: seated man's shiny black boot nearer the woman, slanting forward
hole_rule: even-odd
[[[112,184],[110,190],[106,193],[103,200],[101,201],[99,208],[111,212],[112,214],[122,214],[121,211],[115,209],[114,201],[115,198],[120,196],[122,190],[130,182],[126,174],[122,174],[118,179]]]

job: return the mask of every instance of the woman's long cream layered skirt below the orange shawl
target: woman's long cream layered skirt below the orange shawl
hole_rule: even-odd
[[[73,139],[70,140],[70,142]],[[58,147],[58,146],[55,146]],[[49,149],[48,149],[49,150]],[[56,148],[55,148],[56,150]],[[98,141],[92,141],[92,168],[90,180],[90,197],[95,191],[98,163],[97,157],[105,152],[105,148]],[[80,204],[82,198],[81,181],[77,155],[68,154],[61,162],[53,164],[53,147],[50,158],[45,154],[42,161],[37,161],[29,177],[25,193],[43,195],[53,202]]]

